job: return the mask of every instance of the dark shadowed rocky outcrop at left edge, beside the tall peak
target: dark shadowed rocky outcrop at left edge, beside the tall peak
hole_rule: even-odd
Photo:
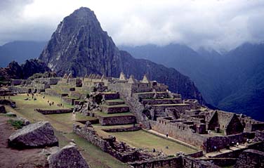
[[[0,77],[3,79],[27,79],[35,73],[51,72],[40,60],[26,60],[24,64],[18,65],[13,61],[7,67],[0,67]]]

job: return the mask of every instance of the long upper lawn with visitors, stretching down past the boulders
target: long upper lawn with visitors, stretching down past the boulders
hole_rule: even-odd
[[[25,117],[29,119],[30,122],[38,122],[43,120],[50,122],[55,129],[55,136],[57,136],[59,140],[60,147],[67,145],[71,139],[74,139],[75,143],[77,143],[77,146],[80,149],[81,154],[85,157],[86,161],[92,168],[128,167],[127,164],[124,164],[111,155],[104,153],[102,150],[93,146],[84,138],[73,134],[72,124],[82,124],[79,122],[74,122],[75,117],[73,117],[72,113],[42,115],[41,113],[34,111],[35,108],[52,109],[53,107],[50,107],[46,101],[49,99],[50,101],[59,103],[56,100],[60,100],[60,98],[45,96],[45,99],[43,100],[42,96],[39,95],[37,97],[37,101],[24,101],[24,98],[26,97],[26,94],[11,96],[11,100],[16,102],[17,108],[13,109],[9,106],[5,106],[6,111],[14,112],[20,117]]]

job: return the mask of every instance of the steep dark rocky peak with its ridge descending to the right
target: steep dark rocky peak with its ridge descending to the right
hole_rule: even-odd
[[[89,8],[79,8],[60,22],[39,59],[60,76],[72,72],[75,77],[91,73],[119,77],[124,72],[126,76],[142,79],[146,74],[150,80],[169,85],[171,91],[183,98],[203,101],[189,77],[173,68],[119,51]]]

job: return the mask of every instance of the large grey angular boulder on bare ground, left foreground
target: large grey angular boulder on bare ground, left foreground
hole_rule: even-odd
[[[37,122],[18,129],[8,138],[8,146],[15,148],[41,148],[58,146],[58,139],[54,135],[49,122]]]

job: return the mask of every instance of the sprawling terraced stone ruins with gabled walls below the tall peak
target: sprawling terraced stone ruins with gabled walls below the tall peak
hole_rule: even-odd
[[[140,123],[143,129],[168,134],[171,138],[202,150],[206,158],[238,157],[243,150],[263,144],[263,140],[255,137],[257,131],[264,130],[264,122],[232,112],[211,110],[195,99],[182,99],[179,94],[171,93],[168,86],[151,81],[147,75],[142,80],[135,79],[133,75],[127,79],[124,73],[119,78],[93,74],[84,78],[65,75],[58,80],[58,85],[89,91],[89,97],[79,95],[79,98],[86,98],[86,103],[77,104],[76,110],[97,117],[103,126]],[[52,88],[45,89],[45,92],[53,94]],[[77,96],[75,90],[68,89],[67,92],[67,95]],[[67,98],[67,95],[54,93],[54,96],[62,99]],[[95,97],[100,101],[95,101]],[[74,101],[72,98],[71,104]],[[117,116],[110,117],[113,112]],[[125,112],[128,115],[118,116]],[[87,132],[87,128],[74,127],[74,130],[86,139],[97,137],[95,132]],[[104,141],[110,143],[114,140],[109,138]]]

